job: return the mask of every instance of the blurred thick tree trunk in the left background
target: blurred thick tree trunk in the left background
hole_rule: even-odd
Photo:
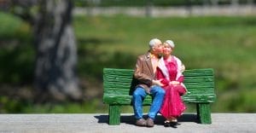
[[[35,87],[42,98],[78,100],[77,48],[73,32],[72,0],[40,1],[34,23],[37,50]],[[47,95],[43,95],[47,94]]]

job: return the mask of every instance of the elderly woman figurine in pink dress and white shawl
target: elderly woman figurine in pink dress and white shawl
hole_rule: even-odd
[[[172,40],[163,43],[163,57],[159,61],[156,78],[161,80],[164,84],[162,88],[166,90],[165,99],[160,108],[160,113],[166,118],[165,126],[177,128],[177,117],[181,116],[186,109],[181,95],[184,95],[187,90],[183,84],[185,67],[182,61],[172,55],[174,47]]]

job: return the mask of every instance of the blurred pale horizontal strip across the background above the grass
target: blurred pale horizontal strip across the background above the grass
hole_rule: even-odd
[[[144,7],[91,7],[76,8],[73,14],[88,15],[113,15],[128,14],[132,16],[145,16],[151,14],[155,17],[169,16],[207,16],[207,15],[226,15],[226,16],[245,16],[256,14],[255,5],[219,5],[219,6],[179,6],[179,7],[151,7],[150,10]]]

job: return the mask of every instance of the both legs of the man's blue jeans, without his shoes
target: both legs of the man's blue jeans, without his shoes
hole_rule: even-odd
[[[165,90],[160,86],[152,86],[150,88],[150,95],[153,96],[151,107],[149,108],[148,117],[154,119],[156,114],[159,112],[162,102],[165,97]],[[136,119],[143,118],[143,100],[148,94],[146,91],[138,86],[132,95],[132,106]]]

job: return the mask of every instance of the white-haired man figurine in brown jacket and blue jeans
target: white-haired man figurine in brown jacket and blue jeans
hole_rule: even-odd
[[[138,80],[138,84],[132,95],[137,126],[154,126],[155,116],[159,112],[165,96],[165,90],[160,87],[163,84],[155,78],[156,67],[160,61],[159,55],[161,52],[161,41],[158,38],[154,38],[149,42],[148,52],[145,55],[139,55],[137,57],[134,78]],[[146,95],[153,97],[147,120],[143,119],[143,99]]]

